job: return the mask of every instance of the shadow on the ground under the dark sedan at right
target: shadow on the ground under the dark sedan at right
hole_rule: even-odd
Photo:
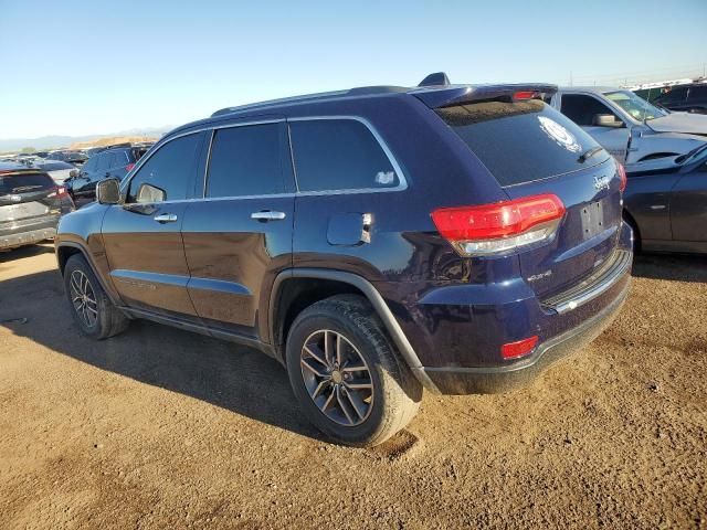
[[[680,254],[636,254],[633,276],[677,282],[707,282],[707,256]]]

